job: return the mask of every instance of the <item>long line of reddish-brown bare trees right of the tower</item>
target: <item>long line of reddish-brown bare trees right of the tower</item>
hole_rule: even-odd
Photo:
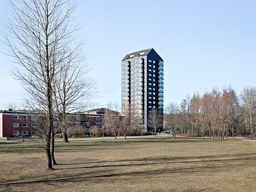
[[[220,140],[236,134],[255,138],[256,88],[247,86],[240,95],[231,86],[213,88],[204,95],[187,95],[180,105],[170,103],[164,108],[164,128],[186,136],[216,136]]]

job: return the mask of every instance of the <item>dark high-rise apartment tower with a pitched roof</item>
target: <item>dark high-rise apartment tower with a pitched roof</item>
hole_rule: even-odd
[[[122,114],[129,109],[140,119],[145,131],[149,131],[148,112],[158,109],[163,116],[163,107],[163,59],[154,49],[127,54],[122,60]]]

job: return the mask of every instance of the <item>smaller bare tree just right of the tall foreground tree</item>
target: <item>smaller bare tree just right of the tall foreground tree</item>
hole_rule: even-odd
[[[88,72],[80,51],[74,52],[72,57],[63,63],[60,73],[54,79],[54,102],[56,117],[63,133],[63,142],[68,142],[67,113],[82,111],[90,105],[95,81],[84,78]]]

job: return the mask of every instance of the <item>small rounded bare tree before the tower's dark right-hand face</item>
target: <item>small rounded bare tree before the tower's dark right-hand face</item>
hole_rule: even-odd
[[[156,137],[157,129],[163,127],[163,116],[157,109],[152,109],[151,111],[149,111],[147,124],[148,127],[154,130]]]

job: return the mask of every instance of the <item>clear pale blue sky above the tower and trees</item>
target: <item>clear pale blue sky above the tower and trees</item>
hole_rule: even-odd
[[[6,17],[6,0],[0,17]],[[164,104],[231,85],[237,95],[256,83],[256,1],[75,0],[84,53],[97,81],[97,107],[121,104],[121,60],[154,48],[164,60]],[[0,37],[3,38],[3,37]],[[3,49],[3,46],[0,46]],[[12,63],[0,53],[0,109],[20,102]]]

